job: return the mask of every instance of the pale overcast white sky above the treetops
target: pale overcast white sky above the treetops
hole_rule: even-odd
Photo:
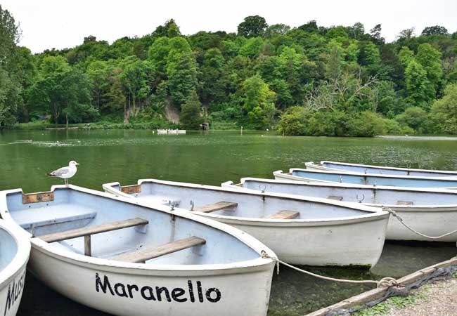
[[[354,25],[366,31],[382,24],[382,37],[394,41],[403,29],[442,25],[457,31],[456,0],[0,0],[22,29],[21,46],[33,53],[71,48],[84,37],[112,43],[121,37],[141,37],[174,18],[182,34],[198,31],[236,32],[248,15],[261,15],[269,25],[291,27],[317,20],[318,25]]]

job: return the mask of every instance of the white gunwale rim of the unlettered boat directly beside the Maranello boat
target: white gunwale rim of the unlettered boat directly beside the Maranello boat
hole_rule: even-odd
[[[390,216],[390,213],[387,211],[382,211],[380,208],[375,208],[373,206],[366,206],[366,205],[358,205],[353,202],[340,202],[340,201],[333,201],[329,199],[324,199],[321,197],[302,197],[300,195],[286,195],[282,193],[274,193],[274,192],[257,192],[255,190],[250,189],[233,189],[228,187],[216,187],[213,185],[201,185],[195,183],[181,183],[175,181],[167,181],[167,180],[157,180],[157,179],[139,179],[137,181],[138,185],[142,185],[143,183],[159,183],[163,185],[173,185],[177,187],[192,187],[197,189],[205,189],[205,190],[213,190],[213,191],[222,191],[222,192],[232,192],[236,194],[244,194],[244,195],[257,195],[259,197],[278,197],[283,199],[292,199],[295,201],[306,201],[306,202],[316,202],[320,204],[328,204],[332,206],[340,206],[345,207],[347,209],[352,209],[356,211],[364,211],[368,214],[358,215],[358,216],[344,216],[340,218],[318,218],[318,219],[305,219],[305,218],[298,218],[298,219],[272,219],[272,218],[247,218],[247,217],[240,217],[240,216],[226,216],[226,215],[219,215],[214,213],[203,213],[200,211],[195,211],[195,214],[199,216],[204,216],[207,218],[219,218],[224,220],[224,223],[231,222],[231,223],[245,223],[246,225],[256,224],[257,225],[265,225],[265,226],[294,226],[294,227],[309,227],[309,226],[324,226],[324,225],[345,225],[345,224],[352,224],[352,223],[361,223],[365,221],[372,221],[372,220],[383,220]],[[112,189],[114,185],[119,185],[119,182],[112,182],[112,183],[105,183],[103,184],[103,190],[107,190],[108,192],[112,192],[115,195],[122,195],[123,197],[127,197],[132,199],[131,195],[127,195],[127,193],[121,192],[120,190]],[[355,204],[355,205],[354,205]],[[186,210],[188,211],[188,210]],[[191,212],[191,211],[188,211]]]

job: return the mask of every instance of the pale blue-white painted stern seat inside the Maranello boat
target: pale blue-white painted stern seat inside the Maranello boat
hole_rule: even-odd
[[[24,209],[11,213],[16,223],[25,230],[40,228],[48,225],[83,222],[94,219],[97,212],[80,206],[61,205],[47,206],[46,209]]]

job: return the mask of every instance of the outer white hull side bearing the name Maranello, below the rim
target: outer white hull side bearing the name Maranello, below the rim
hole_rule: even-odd
[[[112,315],[250,316],[266,315],[272,265],[200,271],[120,268],[58,256],[32,242],[29,269],[67,298]]]

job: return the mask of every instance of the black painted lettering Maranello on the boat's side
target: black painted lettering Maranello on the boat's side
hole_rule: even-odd
[[[112,296],[120,296],[126,298],[134,298],[134,294],[138,292],[143,299],[146,301],[164,301],[171,302],[172,300],[178,303],[183,303],[186,301],[199,301],[203,303],[205,298],[210,303],[217,303],[221,300],[221,291],[219,289],[212,287],[205,291],[205,296],[203,295],[202,283],[200,281],[195,282],[196,287],[196,296],[194,294],[194,286],[191,280],[187,282],[188,295],[186,295],[186,289],[181,287],[176,287],[171,291],[167,287],[139,287],[136,284],[122,284],[116,283],[114,286],[111,286],[110,279],[106,275],[103,276],[103,280],[100,275],[96,273],[95,275],[95,289],[97,292],[102,291],[104,294],[111,294]],[[154,294],[155,293],[155,294]]]

